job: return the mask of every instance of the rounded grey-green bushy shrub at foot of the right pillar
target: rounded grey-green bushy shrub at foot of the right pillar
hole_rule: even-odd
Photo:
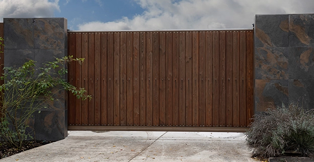
[[[314,110],[290,104],[256,114],[246,142],[253,156],[276,157],[287,151],[309,156],[314,152]]]

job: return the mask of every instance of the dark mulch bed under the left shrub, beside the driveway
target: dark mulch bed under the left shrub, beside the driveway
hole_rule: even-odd
[[[20,149],[11,147],[5,142],[0,142],[0,159],[35,148],[35,147],[39,147],[39,146],[42,146],[51,142],[52,141],[24,141],[22,148]]]

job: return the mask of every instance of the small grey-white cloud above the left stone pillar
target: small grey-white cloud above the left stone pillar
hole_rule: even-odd
[[[54,11],[60,11],[59,0],[2,0],[0,18],[38,18],[53,17]]]

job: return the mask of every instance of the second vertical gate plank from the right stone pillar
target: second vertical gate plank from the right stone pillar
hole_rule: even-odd
[[[246,32],[240,32],[240,126],[247,125]]]

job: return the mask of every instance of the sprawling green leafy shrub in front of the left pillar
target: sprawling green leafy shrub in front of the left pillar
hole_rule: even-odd
[[[29,129],[29,119],[36,111],[53,102],[59,91],[69,91],[77,98],[90,99],[86,90],[76,88],[64,79],[67,70],[64,64],[84,59],[63,57],[46,62],[37,68],[35,61],[29,60],[21,67],[5,67],[0,85],[0,137],[12,147],[21,148],[22,142],[33,138]],[[38,111],[40,113],[40,111]],[[31,131],[31,132],[29,132]],[[33,132],[34,133],[34,132]]]

